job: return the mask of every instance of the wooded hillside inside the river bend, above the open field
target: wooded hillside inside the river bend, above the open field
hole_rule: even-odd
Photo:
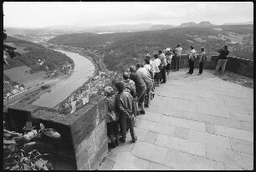
[[[21,56],[16,58],[8,58],[8,64],[4,65],[3,69],[28,66],[35,71],[53,71],[61,67],[66,62],[73,63],[73,60],[68,58],[64,53],[55,52],[53,50],[44,48],[36,43],[19,40],[16,38],[8,37],[4,43],[14,43],[21,51]],[[38,59],[44,60],[42,65],[38,64]]]

